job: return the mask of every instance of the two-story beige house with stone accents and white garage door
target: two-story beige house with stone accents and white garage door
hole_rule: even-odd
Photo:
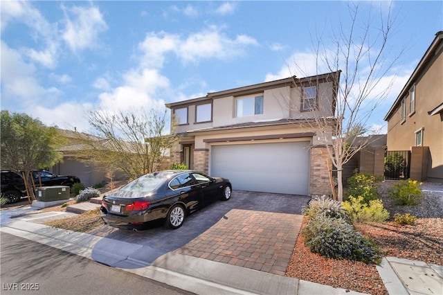
[[[294,76],[166,104],[181,136],[171,163],[226,177],[235,190],[330,195],[313,118],[334,123],[339,78]]]

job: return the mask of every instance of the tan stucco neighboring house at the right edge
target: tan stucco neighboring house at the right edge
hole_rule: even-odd
[[[385,116],[388,151],[411,151],[410,178],[443,183],[443,31]]]

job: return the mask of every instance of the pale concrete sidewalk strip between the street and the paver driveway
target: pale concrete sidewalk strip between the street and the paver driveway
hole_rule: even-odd
[[[150,262],[145,259],[150,249],[142,245],[31,222],[36,217],[19,218],[1,227],[0,231],[195,294],[361,294],[179,253],[167,253]]]

